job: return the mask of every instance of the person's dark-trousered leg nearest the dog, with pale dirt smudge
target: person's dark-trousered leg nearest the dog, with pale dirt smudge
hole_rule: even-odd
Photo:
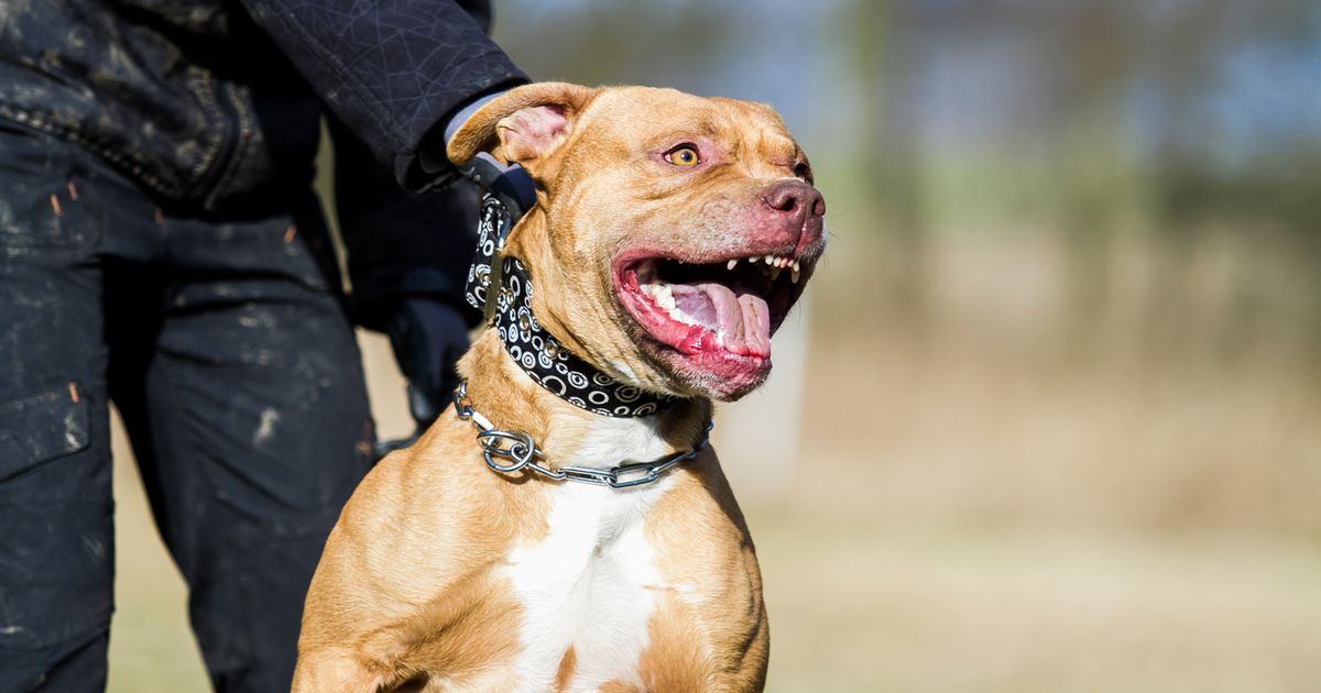
[[[221,692],[288,690],[304,593],[370,467],[359,354],[314,199],[217,224],[166,216],[165,318],[116,387]],[[135,381],[125,378],[125,383]]]

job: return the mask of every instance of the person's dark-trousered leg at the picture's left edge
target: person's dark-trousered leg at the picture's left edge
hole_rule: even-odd
[[[96,177],[0,125],[0,692],[103,690],[114,606]]]

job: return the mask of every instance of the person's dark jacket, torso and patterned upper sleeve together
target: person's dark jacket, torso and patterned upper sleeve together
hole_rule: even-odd
[[[436,124],[526,81],[487,16],[452,0],[0,0],[0,117],[223,211],[305,183],[325,106],[423,190],[446,173],[417,162]]]

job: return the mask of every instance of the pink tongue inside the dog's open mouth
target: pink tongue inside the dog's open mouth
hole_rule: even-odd
[[[716,333],[734,354],[770,355],[770,309],[760,296],[734,296],[715,282],[672,284],[675,306]]]

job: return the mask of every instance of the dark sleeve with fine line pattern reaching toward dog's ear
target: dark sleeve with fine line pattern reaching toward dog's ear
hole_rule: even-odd
[[[453,0],[242,0],[336,116],[410,190],[466,102],[527,77]],[[444,161],[444,157],[440,157]]]

